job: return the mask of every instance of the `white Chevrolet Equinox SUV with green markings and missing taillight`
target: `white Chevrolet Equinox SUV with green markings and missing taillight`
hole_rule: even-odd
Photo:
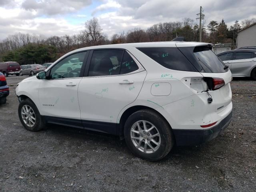
[[[118,135],[137,156],[160,160],[174,144],[206,142],[230,122],[231,72],[211,49],[152,42],[74,50],[18,84],[20,121],[30,131],[51,123]],[[73,60],[82,64],[70,71]]]

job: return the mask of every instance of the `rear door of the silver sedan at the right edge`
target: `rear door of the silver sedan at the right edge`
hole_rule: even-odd
[[[246,51],[236,51],[231,67],[233,76],[250,76],[252,67],[252,57],[254,53]]]

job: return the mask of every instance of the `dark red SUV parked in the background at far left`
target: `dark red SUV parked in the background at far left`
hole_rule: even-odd
[[[4,76],[8,77],[8,75],[20,75],[20,65],[17,62],[8,61],[0,63],[0,72],[4,74]]]

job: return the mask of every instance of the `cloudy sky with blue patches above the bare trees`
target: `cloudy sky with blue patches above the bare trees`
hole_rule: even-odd
[[[94,16],[110,37],[158,22],[195,20],[200,6],[206,24],[224,18],[230,26],[235,20],[256,18],[256,0],[0,0],[0,39],[17,32],[72,35]]]

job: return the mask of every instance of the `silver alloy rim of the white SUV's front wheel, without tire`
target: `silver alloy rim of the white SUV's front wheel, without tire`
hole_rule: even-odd
[[[32,127],[36,123],[36,114],[34,110],[28,105],[24,105],[22,107],[21,117],[26,126]]]

